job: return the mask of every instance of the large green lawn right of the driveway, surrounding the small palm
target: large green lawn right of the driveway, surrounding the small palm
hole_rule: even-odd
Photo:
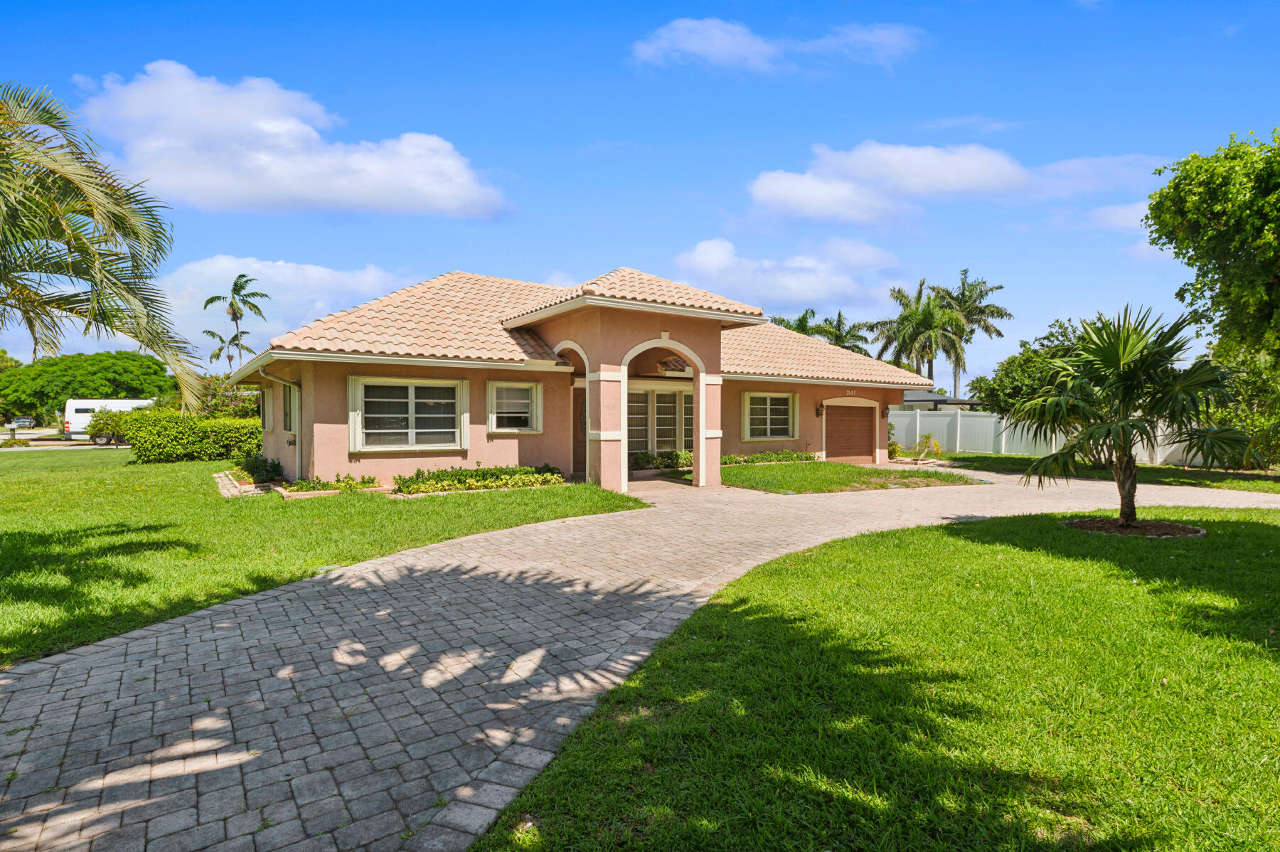
[[[1280,512],[1032,516],[755,568],[474,847],[1280,848]]]

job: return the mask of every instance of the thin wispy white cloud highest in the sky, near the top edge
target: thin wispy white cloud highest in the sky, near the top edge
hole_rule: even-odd
[[[739,70],[776,70],[787,56],[835,56],[890,65],[919,47],[924,31],[904,24],[845,24],[819,38],[764,38],[742,23],[677,18],[631,45],[650,65],[705,64]]]

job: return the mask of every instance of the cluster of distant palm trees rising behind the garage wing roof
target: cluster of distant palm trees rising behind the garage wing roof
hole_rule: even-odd
[[[909,293],[901,287],[890,290],[897,313],[884,320],[850,322],[844,312],[815,322],[818,312],[809,308],[797,317],[773,316],[785,329],[819,338],[849,352],[870,354],[867,347],[878,344],[877,358],[910,365],[915,372],[933,380],[933,362],[945,357],[951,363],[952,395],[960,395],[960,379],[965,371],[965,345],[982,331],[988,338],[1001,338],[996,320],[1011,320],[1006,308],[992,304],[988,297],[1004,289],[986,279],[970,279],[969,270],[960,270],[960,283],[954,288],[931,285],[923,278]]]

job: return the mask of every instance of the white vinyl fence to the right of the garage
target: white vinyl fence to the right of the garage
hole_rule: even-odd
[[[946,453],[1009,453],[1011,455],[1047,455],[1059,446],[1055,441],[1036,441],[1020,426],[1006,429],[1000,414],[984,411],[891,411],[893,440],[911,446],[920,435],[932,434]],[[1185,464],[1181,446],[1157,445],[1139,455],[1147,464]]]

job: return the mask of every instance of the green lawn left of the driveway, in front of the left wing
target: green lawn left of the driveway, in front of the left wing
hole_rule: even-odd
[[[225,499],[228,462],[0,453],[0,665],[485,530],[644,505],[591,485],[390,500]]]

